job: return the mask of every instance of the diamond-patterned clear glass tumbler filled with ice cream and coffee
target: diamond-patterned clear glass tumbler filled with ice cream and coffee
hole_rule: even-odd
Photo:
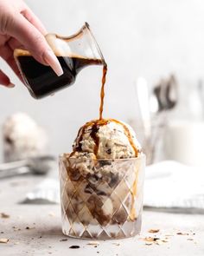
[[[62,232],[109,240],[140,233],[145,155],[118,160],[60,156]]]

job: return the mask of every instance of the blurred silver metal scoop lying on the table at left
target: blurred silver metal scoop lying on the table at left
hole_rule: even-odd
[[[53,165],[54,157],[50,155],[3,163],[0,164],[0,179],[20,174],[47,174]]]

